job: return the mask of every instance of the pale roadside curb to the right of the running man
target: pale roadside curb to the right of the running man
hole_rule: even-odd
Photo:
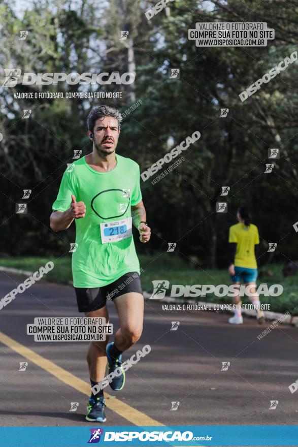
[[[144,292],[144,298],[145,300],[149,300],[149,298],[151,297],[151,294],[149,294],[148,292]],[[173,297],[168,297],[165,296],[164,298],[162,298],[162,300],[154,300],[155,302],[157,301],[158,303],[175,303],[175,304],[200,304],[201,306],[209,306],[212,307],[214,309],[214,307],[218,304],[218,303],[207,303],[205,301],[195,301],[195,300],[177,300],[177,298],[173,298]],[[216,309],[217,310],[217,309]],[[206,310],[204,311],[206,312]],[[208,312],[208,310],[207,310]],[[223,312],[225,313],[233,313],[233,311],[231,310],[223,310]],[[255,316],[255,311],[254,310],[250,310],[250,309],[245,309],[242,311],[243,314],[247,315],[247,316]],[[279,318],[281,316],[284,316],[284,313],[280,313],[280,312],[271,312],[270,310],[263,310],[264,316],[266,318],[266,320],[270,320],[270,321],[276,321],[279,320]],[[280,324],[286,324],[286,325],[292,325],[292,326],[298,326],[298,316],[292,316],[292,315],[288,315],[285,317],[284,321]]]

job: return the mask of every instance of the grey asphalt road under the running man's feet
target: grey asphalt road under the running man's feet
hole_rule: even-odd
[[[1,272],[0,296],[23,279]],[[111,302],[109,311],[116,330]],[[82,392],[84,387],[88,392],[88,342],[37,343],[26,335],[26,325],[34,317],[79,315],[73,289],[46,282],[31,286],[0,310],[1,333],[42,357],[39,366],[0,336],[2,426],[88,424],[87,395]],[[134,420],[138,425],[143,414],[147,425],[152,419],[163,425],[296,425],[298,392],[291,394],[288,387],[298,379],[298,329],[279,326],[258,340],[269,324],[260,327],[254,319],[244,318],[242,326],[231,326],[227,318],[207,311],[165,311],[160,303],[146,300],[142,337],[124,360],[145,344],[152,350],[126,372],[121,392],[108,387],[116,398],[106,401],[106,424],[133,425]],[[171,331],[172,321],[180,322],[177,331]],[[25,361],[26,370],[19,371]],[[222,362],[230,362],[228,370],[221,371]],[[56,374],[61,378],[49,364],[62,368]],[[278,400],[276,409],[269,409],[271,400]],[[177,401],[178,409],[171,410]],[[75,412],[69,411],[71,402],[79,402]],[[129,407],[121,407],[122,403]]]

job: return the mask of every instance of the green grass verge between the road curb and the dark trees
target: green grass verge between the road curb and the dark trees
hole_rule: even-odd
[[[144,269],[142,273],[142,286],[147,292],[152,292],[152,280],[168,280],[170,284],[227,284],[229,285],[229,277],[227,269],[205,270],[194,268],[191,262],[187,262],[175,253],[161,252],[155,255],[141,255],[140,265]],[[35,272],[48,261],[55,264],[45,279],[52,282],[68,283],[72,281],[71,257],[56,258],[0,258],[0,266],[13,267],[21,270]],[[298,315],[298,275],[283,277],[282,266],[271,264],[262,267],[260,270],[271,270],[272,277],[264,276],[258,279],[259,283],[267,283],[268,287],[272,284],[282,284],[283,293],[279,297],[261,296],[263,304],[270,304],[270,310],[276,312],[291,311],[293,315]],[[214,295],[207,297],[193,298],[198,301],[208,301],[216,303],[230,303],[231,298],[219,298]],[[242,300],[243,303],[249,302],[247,299]]]

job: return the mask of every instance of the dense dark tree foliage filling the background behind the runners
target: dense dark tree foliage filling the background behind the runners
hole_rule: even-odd
[[[228,227],[245,203],[259,227],[259,262],[269,260],[268,242],[278,243],[275,260],[296,260],[297,63],[244,103],[239,93],[297,49],[298,1],[175,0],[148,21],[145,12],[154,4],[109,0],[98,7],[92,0],[42,0],[22,14],[4,0],[0,67],[34,73],[135,70],[133,87],[96,87],[121,91],[121,99],[103,102],[122,111],[142,101],[123,119],[119,153],[135,159],[142,172],[194,131],[201,133],[173,172],[156,184],[154,177],[141,181],[154,232],[150,249],[163,250],[173,241],[181,256],[200,266],[225,266]],[[188,40],[196,22],[213,21],[267,22],[275,40],[267,47],[223,48],[196,47]],[[28,30],[25,40],[19,40],[20,30]],[[125,41],[121,30],[129,31]],[[181,79],[169,78],[170,67],[180,68]],[[100,101],[14,97],[24,91],[78,91],[65,83],[0,90],[1,251],[59,256],[74,235],[50,230],[51,205],[74,149],[82,149],[82,156],[91,150],[85,121]],[[229,109],[226,118],[219,118],[221,108]],[[22,119],[23,109],[32,109],[29,119]],[[264,173],[270,147],[280,148],[280,158],[272,173]],[[224,198],[222,186],[230,186]],[[16,215],[15,203],[26,188],[32,189],[28,213]],[[228,202],[226,214],[215,212],[222,199]]]

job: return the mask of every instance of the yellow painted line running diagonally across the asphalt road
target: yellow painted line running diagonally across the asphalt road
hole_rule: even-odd
[[[83,394],[86,394],[87,396],[90,396],[90,385],[84,380],[80,379],[79,377],[76,377],[71,372],[68,372],[63,368],[60,368],[60,366],[56,365],[50,360],[45,359],[39,354],[36,354],[31,349],[27,348],[21,343],[18,343],[13,338],[8,337],[2,332],[0,332],[0,342],[13,349],[20,356],[26,358],[27,360],[30,360],[40,368],[44,369],[53,376],[57,377],[59,380],[64,382],[64,384],[75,388],[76,390],[80,391]],[[107,397],[110,397],[108,393],[105,393],[105,395]],[[155,421],[155,419],[149,418],[149,416],[147,416],[145,413],[142,413],[141,411],[136,410],[130,405],[121,402],[121,400],[117,398],[110,399],[108,407],[115,413],[119,414],[121,418],[126,419],[127,421],[133,423],[134,425],[163,426],[163,424],[160,424],[160,422]]]

